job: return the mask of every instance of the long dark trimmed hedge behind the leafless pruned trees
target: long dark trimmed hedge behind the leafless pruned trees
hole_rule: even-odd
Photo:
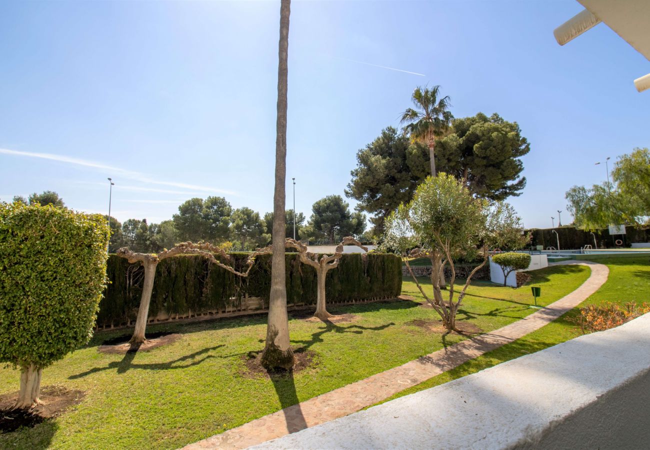
[[[247,253],[230,254],[236,269],[244,269]],[[287,253],[287,305],[316,304],[316,271]],[[339,267],[327,274],[328,304],[394,298],[402,291],[402,262],[391,254],[343,254]],[[253,310],[249,298],[268,306],[271,255],[257,258],[249,276],[240,278],[200,256],[163,259],[157,267],[149,320],[192,317],[203,313]],[[116,255],[109,256],[109,285],[99,303],[98,327],[120,326],[135,320],[144,269]]]

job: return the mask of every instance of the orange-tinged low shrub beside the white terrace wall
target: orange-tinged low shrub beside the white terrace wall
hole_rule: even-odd
[[[606,303],[602,306],[589,305],[580,308],[580,315],[573,321],[580,325],[582,334],[603,331],[622,325],[640,315],[650,312],[650,304],[626,303],[622,308],[617,303]]]

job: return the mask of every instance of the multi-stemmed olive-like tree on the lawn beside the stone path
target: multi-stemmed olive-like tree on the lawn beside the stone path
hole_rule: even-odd
[[[415,191],[413,200],[401,204],[387,218],[382,246],[402,256],[422,297],[437,311],[447,330],[459,331],[456,312],[472,277],[486,264],[489,248],[523,245],[526,238],[521,230],[521,220],[511,205],[490,205],[487,200],[474,198],[461,181],[441,172],[436,178],[428,177]],[[469,273],[454,300],[454,259],[478,255],[482,256],[481,263]],[[426,295],[408,262],[409,258],[423,256],[432,259],[434,298]],[[451,278],[445,300],[440,276],[447,265]]]

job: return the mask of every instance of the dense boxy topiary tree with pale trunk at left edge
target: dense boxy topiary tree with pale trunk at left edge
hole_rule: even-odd
[[[92,336],[108,241],[101,215],[0,204],[0,362],[21,369],[16,407],[38,403],[42,369]]]

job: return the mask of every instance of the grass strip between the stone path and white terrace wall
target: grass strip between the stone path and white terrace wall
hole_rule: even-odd
[[[493,365],[519,358],[519,356],[525,354],[547,349],[553,345],[576,338],[580,336],[580,330],[577,324],[571,319],[578,317],[580,308],[588,304],[600,305],[606,302],[613,302],[623,305],[627,302],[636,302],[636,304],[650,302],[650,258],[609,258],[598,259],[597,262],[609,267],[610,273],[607,281],[601,289],[593,293],[593,295],[576,308],[573,308],[573,310],[521,339],[517,339],[494,351],[487,352],[483,356],[459,365],[456,369],[441,373],[437,377],[426,380],[426,382],[413,386],[413,388],[409,388],[408,390],[404,390],[385,401],[402,397],[409,393],[433,388],[439,384],[465,377],[465,375],[476,373]]]

